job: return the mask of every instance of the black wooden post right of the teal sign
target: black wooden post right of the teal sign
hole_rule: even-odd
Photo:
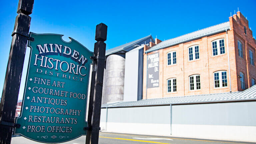
[[[99,141],[99,126],[100,126],[100,111],[102,98],[103,73],[105,64],[105,52],[107,40],[107,26],[100,23],[96,26],[94,44],[94,57],[92,68],[92,83],[90,91],[90,101],[88,110],[88,127],[86,136],[86,144],[98,144]]]

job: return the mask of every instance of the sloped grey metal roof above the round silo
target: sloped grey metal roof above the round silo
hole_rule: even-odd
[[[148,35],[144,38],[140,38],[140,39],[137,39],[135,41],[132,41],[132,42],[129,42],[129,43],[126,43],[126,44],[123,44],[123,45],[120,45],[118,47],[114,47],[112,49],[109,49],[109,50],[106,50],[106,56],[107,55],[110,55],[110,54],[113,54],[113,53],[117,53],[117,52],[120,52],[120,51],[128,51],[127,49],[129,49],[131,46],[134,46],[140,42],[144,42],[145,40],[151,38],[151,41],[152,42],[155,42],[155,40],[153,39],[153,37],[151,35]],[[134,47],[135,48],[135,47]]]

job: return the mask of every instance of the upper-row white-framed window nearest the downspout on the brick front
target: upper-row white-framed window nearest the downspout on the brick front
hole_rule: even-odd
[[[217,39],[212,41],[212,55],[220,55],[225,53],[224,39]]]

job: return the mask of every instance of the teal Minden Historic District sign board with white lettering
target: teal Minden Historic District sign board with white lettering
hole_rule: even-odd
[[[22,111],[15,134],[43,143],[86,135],[86,104],[93,52],[59,34],[30,33]]]

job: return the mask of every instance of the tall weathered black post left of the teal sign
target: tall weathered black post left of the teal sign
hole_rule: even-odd
[[[10,144],[34,0],[19,0],[0,103],[0,144]]]

